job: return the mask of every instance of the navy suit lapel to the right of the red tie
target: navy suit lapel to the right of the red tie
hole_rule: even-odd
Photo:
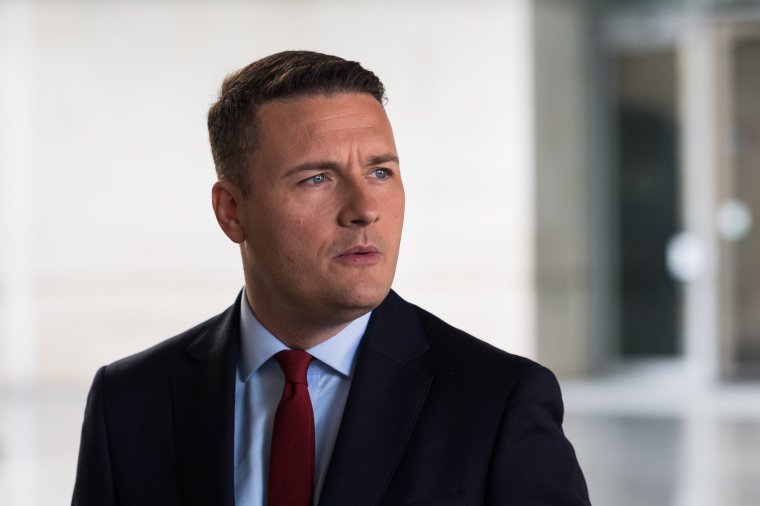
[[[427,348],[413,306],[391,292],[359,348],[320,506],[382,500],[433,381],[407,367]]]

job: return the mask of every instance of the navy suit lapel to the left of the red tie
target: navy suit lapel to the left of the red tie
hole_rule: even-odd
[[[240,297],[187,352],[199,364],[174,378],[180,472],[187,504],[234,504],[234,406]]]

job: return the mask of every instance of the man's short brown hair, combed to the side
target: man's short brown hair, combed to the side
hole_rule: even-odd
[[[208,111],[216,174],[250,193],[250,154],[259,144],[256,113],[265,102],[311,95],[368,93],[383,104],[385,87],[358,62],[312,51],[276,53],[228,75]]]

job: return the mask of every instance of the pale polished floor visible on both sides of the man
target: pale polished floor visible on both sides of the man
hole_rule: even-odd
[[[568,389],[565,431],[593,504],[760,504],[760,417],[752,409],[688,417],[635,402],[627,411],[602,409],[584,401],[588,392]],[[70,502],[85,396],[74,388],[0,391],[0,504]],[[754,390],[737,402],[753,400],[760,404]]]

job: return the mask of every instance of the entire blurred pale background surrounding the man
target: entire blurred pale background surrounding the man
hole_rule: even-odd
[[[395,289],[552,368],[597,505],[760,497],[760,2],[0,0],[0,503],[70,502],[96,369],[242,286],[205,114],[272,52],[386,84]]]

